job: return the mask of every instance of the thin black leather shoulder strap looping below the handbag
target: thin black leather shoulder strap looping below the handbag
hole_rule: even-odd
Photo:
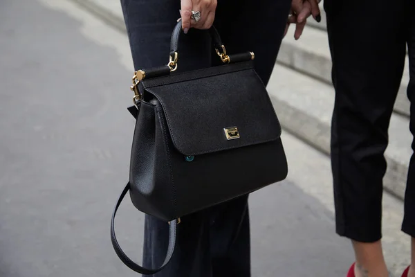
[[[125,255],[124,251],[122,251],[120,244],[118,244],[117,238],[116,238],[116,231],[114,228],[114,220],[116,218],[116,213],[118,210],[118,207],[120,206],[122,199],[124,199],[124,196],[127,195],[127,192],[129,191],[130,185],[129,183],[127,186],[125,186],[124,190],[122,190],[122,193],[120,195],[120,198],[118,199],[118,202],[116,204],[116,208],[114,208],[113,215],[111,218],[111,242],[113,244],[114,250],[116,251],[118,258],[124,262],[127,267],[132,269],[133,271],[136,271],[140,274],[156,274],[158,271],[163,269],[170,261],[170,259],[173,256],[174,247],[176,246],[176,228],[177,228],[177,221],[173,220],[170,222],[170,234],[169,234],[169,247],[167,249],[167,255],[165,258],[165,261],[163,262],[163,265],[159,267],[158,269],[146,269],[145,267],[140,267],[135,262],[133,262],[130,258]],[[166,223],[167,224],[167,223]]]

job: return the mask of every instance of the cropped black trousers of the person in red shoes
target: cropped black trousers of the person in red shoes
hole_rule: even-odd
[[[409,48],[410,129],[415,134],[414,0],[324,0],[333,59],[331,160],[339,235],[380,240],[388,127]],[[415,143],[412,143],[415,149]],[[402,229],[415,237],[415,157]]]

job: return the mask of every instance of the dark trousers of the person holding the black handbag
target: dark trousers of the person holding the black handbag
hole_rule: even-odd
[[[170,35],[180,17],[180,1],[121,0],[121,3],[135,69],[167,64]],[[218,1],[214,25],[227,52],[254,51],[255,68],[264,84],[273,71],[290,3],[290,0]],[[179,44],[178,72],[221,63],[205,30],[191,29]],[[145,267],[162,264],[168,231],[167,222],[146,216]],[[250,276],[248,197],[181,219],[172,261],[154,277],[187,276]]]

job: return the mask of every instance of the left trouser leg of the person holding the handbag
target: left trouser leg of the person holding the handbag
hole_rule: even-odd
[[[134,69],[167,64],[170,36],[180,17],[180,1],[122,0]],[[204,32],[190,30],[181,37],[178,71],[210,66],[210,40]],[[196,58],[195,58],[196,57]],[[131,69],[131,73],[133,70]],[[154,277],[211,277],[210,210],[182,218],[176,249],[169,265]],[[146,215],[143,265],[160,266],[167,250],[169,225]]]

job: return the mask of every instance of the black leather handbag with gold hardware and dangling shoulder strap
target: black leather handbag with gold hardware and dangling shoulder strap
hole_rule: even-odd
[[[281,126],[254,70],[254,53],[228,55],[212,27],[223,64],[174,73],[180,34],[179,21],[169,64],[136,71],[131,87],[136,129],[129,183],[113,211],[111,241],[122,262],[140,274],[167,265],[181,217],[282,181],[288,173]],[[158,269],[137,265],[116,240],[114,217],[128,191],[138,210],[170,224],[167,256]]]

